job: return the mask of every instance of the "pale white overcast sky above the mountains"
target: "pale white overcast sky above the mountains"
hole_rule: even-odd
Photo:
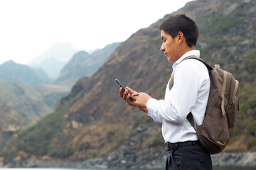
[[[95,50],[127,40],[191,0],[0,0],[0,64],[26,64],[55,42]]]

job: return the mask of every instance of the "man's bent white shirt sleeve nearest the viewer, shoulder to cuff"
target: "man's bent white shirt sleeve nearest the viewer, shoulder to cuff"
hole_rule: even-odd
[[[196,104],[199,89],[199,74],[189,64],[179,64],[174,74],[174,86],[166,91],[164,100],[149,99],[147,115],[155,121],[163,120],[183,123],[191,108]]]

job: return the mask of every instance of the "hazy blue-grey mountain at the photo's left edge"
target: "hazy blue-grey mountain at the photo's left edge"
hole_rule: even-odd
[[[12,60],[0,65],[0,79],[31,85],[50,83],[50,79],[42,69],[33,69]]]

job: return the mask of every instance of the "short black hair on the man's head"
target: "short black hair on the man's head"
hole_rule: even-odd
[[[186,38],[188,47],[196,46],[198,27],[191,18],[188,18],[184,14],[170,16],[161,23],[159,30],[164,30],[164,32],[171,35],[172,38],[175,38],[178,32],[181,31]]]

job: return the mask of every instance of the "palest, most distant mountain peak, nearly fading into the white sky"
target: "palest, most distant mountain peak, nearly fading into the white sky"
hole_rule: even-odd
[[[75,52],[77,50],[69,43],[55,43],[48,51],[28,62],[28,65],[43,68],[51,79],[56,79]]]

